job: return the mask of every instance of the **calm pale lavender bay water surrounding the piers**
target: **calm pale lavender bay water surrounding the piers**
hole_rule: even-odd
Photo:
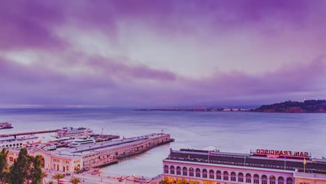
[[[129,109],[0,109],[0,122],[14,128],[0,134],[85,126],[95,132],[131,137],[155,132],[176,141],[105,167],[111,174],[156,176],[169,148],[205,148],[249,153],[271,148],[326,155],[326,114],[266,114],[253,112],[138,112]],[[40,138],[47,135],[40,135]]]

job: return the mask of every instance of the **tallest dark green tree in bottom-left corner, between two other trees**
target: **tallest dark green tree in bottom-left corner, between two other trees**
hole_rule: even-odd
[[[17,160],[14,160],[13,166],[10,168],[10,184],[22,184],[28,178],[29,169],[31,168],[31,158],[27,155],[26,148],[20,150]]]

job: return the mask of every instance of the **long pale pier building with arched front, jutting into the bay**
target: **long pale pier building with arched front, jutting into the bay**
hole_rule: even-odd
[[[173,141],[167,134],[151,134],[140,137],[117,139],[100,143],[85,144],[56,151],[42,147],[28,148],[29,155],[39,155],[42,167],[56,171],[73,172],[83,167],[100,167],[116,162],[117,158],[147,151],[150,148]],[[18,157],[20,148],[9,148],[8,163]]]

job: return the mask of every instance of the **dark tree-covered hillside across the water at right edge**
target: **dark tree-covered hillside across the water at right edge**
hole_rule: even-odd
[[[325,113],[326,100],[304,100],[304,102],[286,101],[272,105],[262,105],[252,112],[284,112],[284,113]]]

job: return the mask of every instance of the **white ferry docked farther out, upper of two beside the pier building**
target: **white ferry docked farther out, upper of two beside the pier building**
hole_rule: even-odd
[[[90,128],[62,128],[58,132],[56,132],[56,138],[60,137],[88,137],[89,135],[93,135],[93,130]]]

